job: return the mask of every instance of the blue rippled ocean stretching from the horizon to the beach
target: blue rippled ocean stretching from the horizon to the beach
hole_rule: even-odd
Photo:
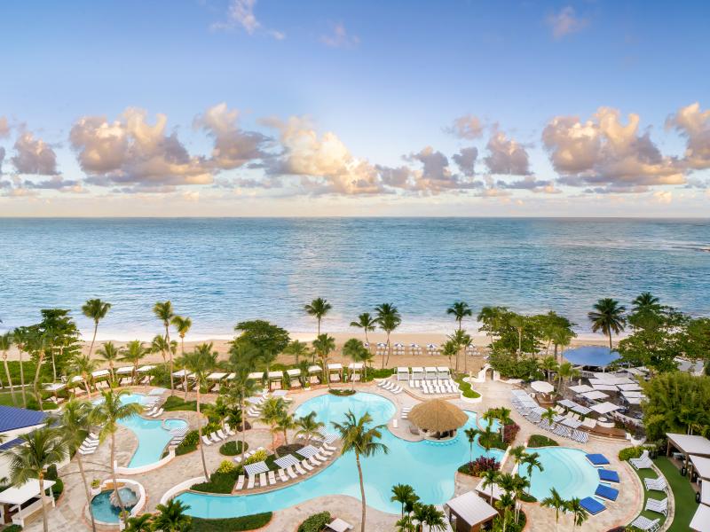
[[[333,305],[333,332],[382,302],[401,331],[449,331],[456,300],[553,309],[588,332],[597,299],[629,306],[647,290],[710,315],[708,220],[0,218],[0,242],[0,330],[61,307],[90,334],[81,306],[94,297],[113,304],[101,338],[152,337],[163,300],[193,319],[193,337],[215,338],[252,318],[313,331],[303,307],[316,297]]]

